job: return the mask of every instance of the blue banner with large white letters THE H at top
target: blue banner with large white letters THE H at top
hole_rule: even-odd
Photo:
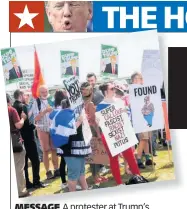
[[[187,32],[186,1],[94,1],[93,32]]]

